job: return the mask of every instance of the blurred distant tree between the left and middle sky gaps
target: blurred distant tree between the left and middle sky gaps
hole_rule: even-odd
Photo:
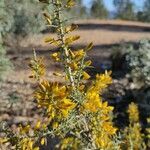
[[[108,17],[108,11],[103,0],[93,0],[90,12],[91,16],[95,18],[104,19]]]

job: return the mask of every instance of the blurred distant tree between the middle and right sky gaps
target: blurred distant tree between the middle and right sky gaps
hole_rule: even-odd
[[[136,20],[134,3],[131,2],[131,0],[114,0],[113,3],[116,7],[116,18],[123,20]]]

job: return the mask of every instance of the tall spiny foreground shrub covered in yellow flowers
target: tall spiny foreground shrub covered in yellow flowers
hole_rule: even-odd
[[[37,57],[34,51],[30,63],[32,69],[30,77],[38,83],[34,97],[37,108],[43,112],[43,119],[37,120],[35,125],[29,123],[25,126],[20,125],[16,131],[2,125],[4,138],[0,141],[10,143],[14,149],[20,150],[39,150],[41,145],[46,145],[48,137],[55,140],[51,143],[53,149],[121,149],[128,139],[117,135],[119,129],[112,121],[113,107],[102,98],[103,90],[112,83],[111,72],[97,74],[90,85],[86,84],[90,75],[85,72],[85,68],[91,66],[91,61],[85,60],[86,52],[93,44],[90,43],[83,49],[74,51],[71,49],[71,44],[80,36],[69,35],[77,26],[67,25],[67,20],[63,20],[63,11],[74,6],[74,0],[40,1],[54,7],[52,15],[45,12],[44,16],[48,25],[56,28],[57,38],[47,37],[45,42],[59,47],[51,57],[55,62],[62,64],[65,74],[59,72],[54,74],[64,78],[66,82],[60,84],[49,81],[45,77],[43,58]],[[52,17],[55,19],[55,24],[51,23]],[[137,107],[135,111],[138,113]],[[130,116],[132,122],[133,113]],[[139,121],[138,117],[135,121]],[[140,129],[135,131],[141,134]],[[130,132],[126,135],[128,134]],[[140,140],[138,138],[134,138],[133,144],[137,144],[136,148],[140,149],[142,137]],[[140,143],[137,143],[139,141]]]

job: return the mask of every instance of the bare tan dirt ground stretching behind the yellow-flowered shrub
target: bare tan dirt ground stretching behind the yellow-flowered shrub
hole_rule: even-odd
[[[84,47],[89,42],[94,43],[93,49],[89,52],[89,58],[94,61],[96,70],[101,69],[102,63],[111,65],[110,55],[115,44],[150,38],[150,24],[146,23],[119,20],[89,20],[76,23],[79,29],[73,34],[80,35],[81,39],[73,46]],[[0,121],[7,121],[11,125],[38,118],[33,102],[35,84],[29,79],[28,64],[32,57],[32,48],[36,49],[38,55],[45,57],[47,77],[52,81],[60,81],[53,76],[53,72],[61,68],[58,64],[54,64],[49,56],[50,50],[55,47],[44,43],[44,38],[48,36],[56,35],[47,32],[32,35],[22,40],[20,50],[9,48],[8,57],[14,64],[14,70],[9,73],[5,82],[0,83]]]

